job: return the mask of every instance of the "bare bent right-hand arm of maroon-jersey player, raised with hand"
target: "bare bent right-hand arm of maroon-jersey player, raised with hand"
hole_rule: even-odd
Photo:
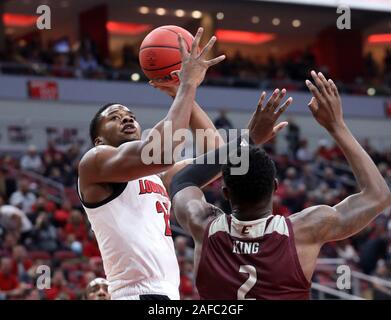
[[[345,239],[367,226],[372,219],[391,205],[390,190],[372,159],[346,126],[341,98],[332,80],[311,72],[315,85],[306,84],[313,94],[309,108],[342,149],[354,176],[359,193],[334,207],[317,206],[291,217],[297,237],[304,242],[323,244]]]

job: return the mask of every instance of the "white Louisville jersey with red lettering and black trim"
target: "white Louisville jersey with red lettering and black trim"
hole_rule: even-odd
[[[140,294],[179,299],[171,202],[157,175],[115,184],[109,199],[82,204],[99,245],[112,299]]]

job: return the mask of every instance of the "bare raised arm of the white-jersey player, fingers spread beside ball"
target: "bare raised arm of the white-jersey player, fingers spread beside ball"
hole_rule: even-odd
[[[177,73],[180,85],[167,116],[150,131],[145,141],[126,142],[118,147],[100,146],[99,141],[95,142],[97,147],[87,152],[79,165],[79,173],[83,181],[88,180],[89,183],[127,182],[138,177],[156,174],[171,165],[171,163],[164,163],[165,153],[169,152],[169,158],[171,158],[173,150],[180,143],[173,140],[173,133],[178,129],[188,128],[196,88],[203,81],[207,69],[225,58],[225,56],[219,56],[211,60],[206,59],[216,37],[212,37],[198,53],[202,32],[203,29],[200,28],[190,52],[186,51],[184,40],[180,34],[178,35],[182,55],[182,68]],[[129,126],[131,130],[133,124],[131,117],[123,117],[121,121],[124,128]],[[172,130],[165,130],[167,125],[171,125]],[[165,148],[167,141],[172,144],[172,148]],[[148,162],[145,161],[145,157],[157,161]]]

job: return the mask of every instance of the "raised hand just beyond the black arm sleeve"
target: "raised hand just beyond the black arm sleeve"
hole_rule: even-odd
[[[262,92],[258,101],[258,106],[253,113],[248,129],[250,137],[255,144],[262,144],[273,139],[279,131],[288,125],[288,122],[283,121],[276,125],[278,118],[284,113],[288,106],[292,103],[292,97],[289,97],[282,106],[280,103],[286,95],[286,90],[275,89],[272,96],[263,107],[266,98],[266,92]]]

